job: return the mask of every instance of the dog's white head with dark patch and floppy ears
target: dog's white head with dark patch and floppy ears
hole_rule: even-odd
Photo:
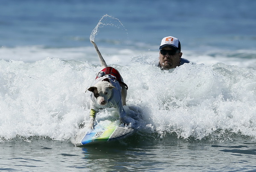
[[[97,99],[97,103],[101,106],[105,106],[108,103],[108,99],[112,95],[112,89],[116,89],[116,87],[107,81],[100,81],[94,86],[86,89],[86,91],[88,90],[93,92],[94,97]]]

